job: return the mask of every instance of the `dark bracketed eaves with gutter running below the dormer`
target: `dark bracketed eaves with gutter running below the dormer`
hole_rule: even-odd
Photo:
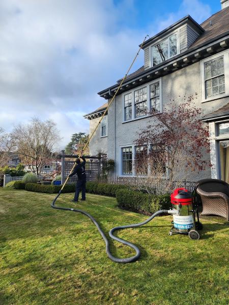
[[[180,70],[188,65],[191,65],[199,60],[216,54],[220,51],[229,48],[229,31],[210,39],[208,42],[204,42],[195,47],[180,53],[173,58],[166,60],[165,62],[147,69],[139,74],[134,74],[128,78],[119,90],[119,93],[126,92],[141,84],[147,83],[158,77],[173,73],[176,70]],[[104,99],[110,99],[119,87],[119,83],[112,85],[98,93]]]

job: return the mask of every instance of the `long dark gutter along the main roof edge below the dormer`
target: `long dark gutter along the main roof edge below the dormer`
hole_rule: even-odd
[[[182,53],[180,53],[180,54],[178,54],[178,55],[176,55],[176,56],[174,56],[174,57],[171,57],[171,58],[165,60],[165,62],[162,62],[161,64],[159,64],[159,65],[157,65],[157,66],[155,66],[155,67],[146,69],[145,71],[140,72],[140,73],[134,75],[133,77],[128,78],[127,81],[124,82],[124,84],[127,83],[127,82],[129,82],[129,81],[131,81],[131,80],[133,80],[133,79],[135,79],[135,78],[137,78],[137,77],[143,76],[144,74],[149,74],[149,73],[152,73],[152,71],[157,71],[157,70],[160,69],[160,67],[165,66],[165,65],[169,64],[170,62],[173,62],[174,60],[179,60],[179,58],[185,57],[185,56],[187,56],[189,53],[192,53],[192,52],[194,52],[194,51],[197,51],[198,49],[201,49],[201,48],[207,46],[208,44],[211,44],[211,43],[217,41],[218,39],[223,38],[223,37],[225,37],[225,36],[227,36],[227,35],[229,35],[229,31],[227,31],[227,32],[225,32],[225,33],[223,33],[223,34],[221,34],[221,35],[219,35],[219,36],[216,36],[216,37],[214,37],[214,38],[212,38],[212,39],[210,39],[210,40],[208,40],[208,41],[206,41],[206,42],[204,42],[204,43],[202,43],[202,44],[200,44],[200,45],[198,45],[198,46],[195,46],[195,47],[193,47],[193,48],[190,48],[190,49],[188,49],[188,50],[186,50],[186,51],[184,51],[184,52],[182,52]],[[226,39],[228,39],[228,38],[226,38]],[[159,69],[158,69],[158,68],[159,68]],[[103,89],[103,90],[101,90],[100,92],[98,92],[97,94],[101,96],[101,95],[103,95],[103,94],[109,92],[110,90],[115,89],[115,88],[118,87],[118,86],[119,86],[119,83],[117,83],[117,84],[115,84],[115,85],[112,85],[112,86],[110,86],[110,87],[108,87],[108,88],[106,88],[106,89]]]

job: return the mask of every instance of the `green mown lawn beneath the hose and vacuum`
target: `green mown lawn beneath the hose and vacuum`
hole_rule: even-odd
[[[204,219],[198,241],[168,236],[170,216],[120,231],[120,237],[136,243],[141,257],[117,264],[107,258],[93,223],[52,209],[53,196],[0,189],[0,304],[228,304],[227,222]],[[62,194],[58,204],[75,207],[72,197]],[[107,234],[145,218],[104,208],[119,210],[111,197],[87,195],[77,206]],[[118,257],[134,254],[116,241],[111,249]]]

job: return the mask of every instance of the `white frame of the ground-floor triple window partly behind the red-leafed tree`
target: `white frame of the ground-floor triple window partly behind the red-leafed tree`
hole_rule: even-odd
[[[148,154],[149,154],[149,150],[152,146],[152,144],[145,144],[147,146],[147,149],[148,149]],[[123,156],[122,156],[122,148],[125,148],[125,147],[132,147],[132,175],[124,175],[123,174]],[[120,154],[119,154],[119,177],[129,177],[129,178],[134,178],[136,177],[136,174],[135,174],[135,164],[134,164],[134,160],[135,160],[135,154],[136,154],[136,144],[126,144],[126,145],[120,145],[119,149],[120,149]],[[143,146],[143,145],[142,145]],[[150,165],[148,165],[148,173],[146,175],[142,174],[142,175],[138,175],[138,177],[147,177],[148,175],[150,175]],[[169,178],[169,170],[167,168],[167,164],[166,164],[166,173],[165,175],[162,177],[162,179],[168,179]]]

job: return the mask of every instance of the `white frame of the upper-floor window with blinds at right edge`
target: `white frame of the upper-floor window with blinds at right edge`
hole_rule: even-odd
[[[212,96],[210,98],[206,98],[206,92],[205,92],[205,63],[210,62],[212,59],[216,59],[218,57],[223,56],[223,63],[224,63],[224,80],[225,80],[225,93],[224,94],[218,94],[215,96]],[[200,62],[201,65],[201,92],[202,92],[202,103],[221,99],[224,97],[229,96],[229,50],[219,52],[213,56],[209,56]]]

